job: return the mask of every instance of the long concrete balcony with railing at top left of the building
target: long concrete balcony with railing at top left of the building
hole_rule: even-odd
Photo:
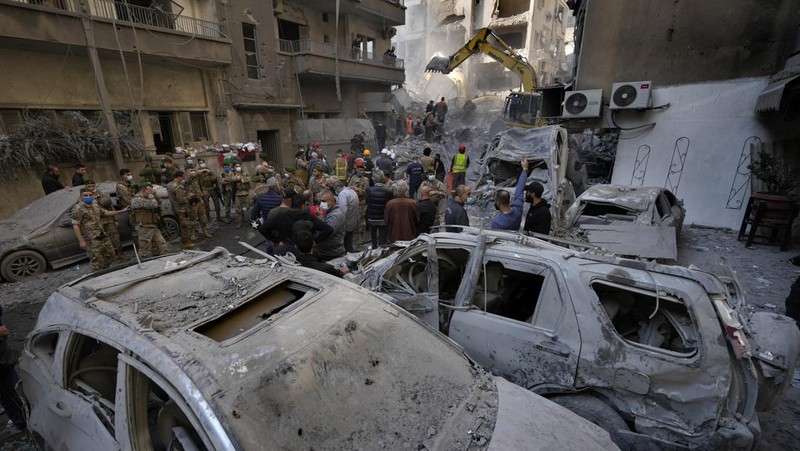
[[[85,47],[81,17],[101,55],[138,54],[201,67],[230,64],[219,23],[113,0],[0,0],[0,46],[62,52]]]

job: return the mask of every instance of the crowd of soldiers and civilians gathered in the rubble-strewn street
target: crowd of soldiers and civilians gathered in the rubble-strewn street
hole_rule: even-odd
[[[213,237],[208,228],[213,210],[217,221],[256,228],[265,238],[267,252],[303,255],[301,263],[341,275],[346,269],[331,269],[325,262],[364,246],[412,240],[439,226],[459,232],[470,225],[465,205],[472,187],[466,181],[470,159],[465,146],[459,147],[449,168],[441,155],[432,156],[426,147],[422,157],[414,157],[399,171],[393,151],[383,148],[373,161],[363,140],[354,141],[349,153],[339,149],[330,160],[318,143],[312,143],[299,150],[293,164],[283,171],[261,162],[253,175],[235,160],[226,159],[222,171],[216,173],[203,158],[188,156],[182,170],[165,158],[159,181],[166,184],[178,219],[181,247],[192,249],[198,236]],[[513,196],[505,190],[495,194],[498,213],[492,228],[520,230],[527,200],[531,207],[523,230],[547,234],[550,207],[542,199],[543,187],[527,182],[526,160],[521,167]],[[131,172],[123,168],[116,185],[116,205],[112,205],[109,193],[99,192],[93,180],[83,180],[85,173],[84,165],[76,167],[73,181],[80,176],[83,188],[72,221],[94,270],[128,258],[121,249],[118,230],[117,216],[123,212],[129,212],[139,257],[167,252],[159,229],[160,188],[147,181],[134,185]],[[57,172],[49,169],[42,180],[46,191],[57,178]]]

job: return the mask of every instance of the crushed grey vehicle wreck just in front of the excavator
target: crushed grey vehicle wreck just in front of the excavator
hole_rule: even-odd
[[[475,195],[494,196],[495,188],[511,190],[513,195],[523,158],[528,159],[530,168],[528,181],[544,187],[542,198],[550,204],[552,228],[559,230],[564,212],[575,200],[567,131],[559,126],[512,127],[495,135],[479,161]]]

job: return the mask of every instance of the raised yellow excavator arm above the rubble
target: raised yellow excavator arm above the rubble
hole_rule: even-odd
[[[489,41],[487,38],[492,37]],[[536,88],[536,72],[519,53],[510,45],[492,33],[488,28],[481,28],[456,53],[448,56],[435,56],[425,67],[426,72],[441,72],[449,74],[461,65],[467,58],[476,53],[488,55],[493,60],[502,64],[506,69],[515,72],[522,78],[522,89],[533,92]]]

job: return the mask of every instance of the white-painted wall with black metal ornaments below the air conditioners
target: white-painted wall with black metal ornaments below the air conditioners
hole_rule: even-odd
[[[673,192],[684,201],[686,224],[737,229],[746,205],[735,208],[739,206],[736,200],[743,198],[746,203],[750,195],[749,183],[743,183],[747,175],[737,177],[742,149],[745,148],[749,155],[749,145],[745,143],[751,137],[758,137],[763,142],[772,140],[753,112],[758,94],[766,84],[767,78],[764,77],[656,87],[653,106],[669,102],[669,108],[646,113],[617,112],[615,118],[620,127],[651,122],[656,125],[646,131],[620,133],[612,183],[671,188],[677,182],[677,189]],[[604,92],[604,95],[608,98],[611,93]],[[604,116],[607,125],[613,126],[610,111],[607,110]],[[650,156],[640,181],[633,177],[633,171],[637,150],[641,146],[650,146]],[[682,173],[673,174],[668,183],[676,146],[687,150],[685,164]],[[642,148],[642,152],[644,150]],[[677,171],[679,166],[680,161],[675,160],[674,170]],[[749,173],[746,167],[742,171]],[[737,186],[743,185],[744,188],[729,203],[734,180]]]

